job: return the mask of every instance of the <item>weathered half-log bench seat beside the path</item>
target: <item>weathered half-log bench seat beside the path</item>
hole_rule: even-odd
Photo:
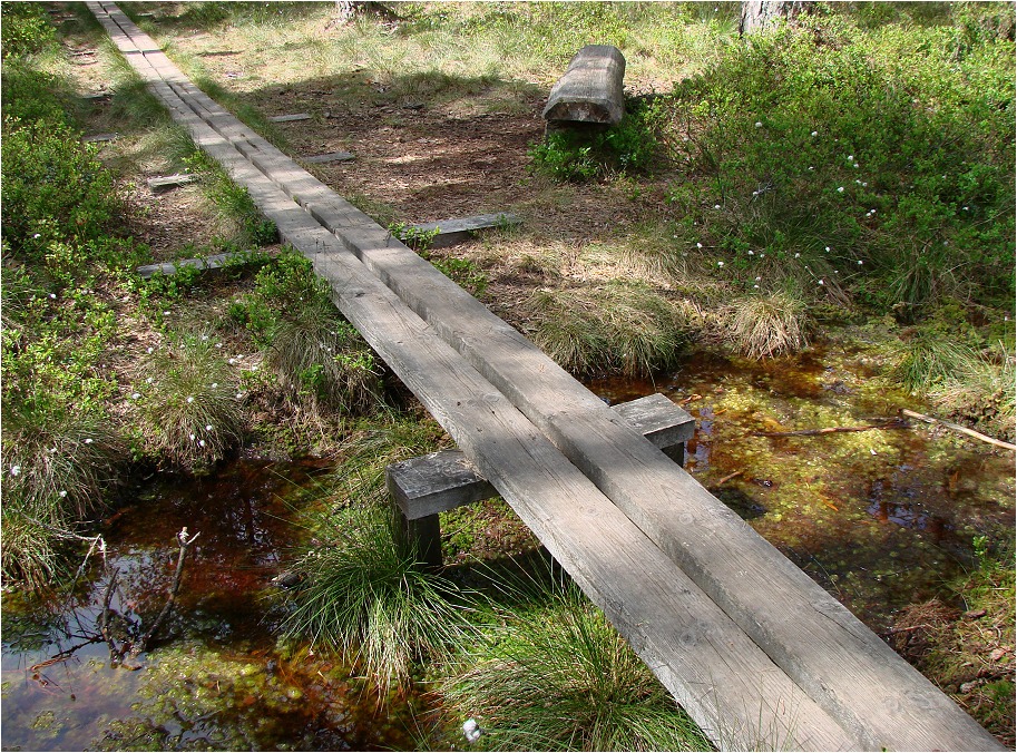
[[[551,87],[544,108],[548,121],[615,125],[625,115],[625,57],[609,45],[588,45],[576,52]]]

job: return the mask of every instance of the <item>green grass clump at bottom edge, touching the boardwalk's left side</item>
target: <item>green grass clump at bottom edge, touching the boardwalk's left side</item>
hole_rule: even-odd
[[[710,743],[574,586],[517,607],[440,684],[483,750],[687,751]]]

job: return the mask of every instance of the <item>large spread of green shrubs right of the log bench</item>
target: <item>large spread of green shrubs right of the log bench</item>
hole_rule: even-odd
[[[958,4],[957,12],[960,13]],[[753,251],[916,321],[945,296],[1014,300],[1013,42],[822,12],[723,49],[678,85],[682,206],[726,265]],[[964,32],[967,33],[967,32]],[[799,275],[802,277],[802,275]]]

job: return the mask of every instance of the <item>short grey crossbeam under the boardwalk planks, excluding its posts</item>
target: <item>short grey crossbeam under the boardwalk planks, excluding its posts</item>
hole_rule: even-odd
[[[613,405],[613,410],[661,450],[681,449],[695,432],[695,419],[659,393]],[[395,505],[410,520],[497,493],[460,450],[394,462],[387,475]]]

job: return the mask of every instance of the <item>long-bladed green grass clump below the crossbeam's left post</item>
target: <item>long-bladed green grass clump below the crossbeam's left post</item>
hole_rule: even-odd
[[[313,525],[315,544],[294,564],[285,630],[338,651],[378,687],[407,687],[420,662],[447,659],[469,629],[466,595],[422,569],[381,498],[362,493]]]

